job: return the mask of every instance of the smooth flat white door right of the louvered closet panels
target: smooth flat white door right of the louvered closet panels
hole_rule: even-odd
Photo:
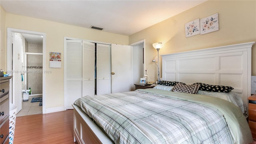
[[[131,46],[111,44],[111,93],[132,90]]]

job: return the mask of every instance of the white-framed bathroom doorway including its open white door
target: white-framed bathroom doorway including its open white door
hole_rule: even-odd
[[[17,116],[44,113],[45,34],[12,28],[7,33],[10,102],[18,107]]]

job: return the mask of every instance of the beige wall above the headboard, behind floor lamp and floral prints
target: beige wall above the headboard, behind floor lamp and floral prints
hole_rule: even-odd
[[[184,24],[219,14],[219,30],[186,38]],[[129,42],[146,39],[146,69],[149,81],[157,80],[157,68],[151,61],[157,56],[154,42],[164,42],[159,54],[256,41],[256,1],[210,0],[154,26],[129,36]],[[252,48],[252,75],[256,75],[256,45]],[[160,68],[161,69],[161,68]],[[160,72],[160,75],[161,72]]]

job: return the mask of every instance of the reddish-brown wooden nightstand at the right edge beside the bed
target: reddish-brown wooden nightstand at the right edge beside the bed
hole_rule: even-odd
[[[248,98],[248,114],[249,114],[249,126],[252,132],[252,138],[256,140],[256,95],[252,95]]]

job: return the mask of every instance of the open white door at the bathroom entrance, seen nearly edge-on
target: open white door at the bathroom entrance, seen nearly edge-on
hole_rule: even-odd
[[[12,67],[12,103],[17,106],[17,113],[22,109],[22,39],[13,33]],[[24,75],[23,75],[24,76]],[[23,79],[24,80],[24,79]]]

